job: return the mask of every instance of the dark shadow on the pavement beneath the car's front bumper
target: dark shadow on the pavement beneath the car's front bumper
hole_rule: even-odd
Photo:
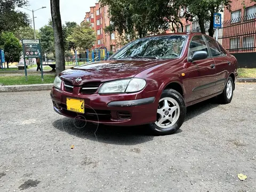
[[[141,126],[106,126],[94,125],[63,117],[53,122],[53,126],[60,131],[79,138],[90,139],[114,145],[137,145],[153,140],[154,136],[147,135],[147,127]]]

